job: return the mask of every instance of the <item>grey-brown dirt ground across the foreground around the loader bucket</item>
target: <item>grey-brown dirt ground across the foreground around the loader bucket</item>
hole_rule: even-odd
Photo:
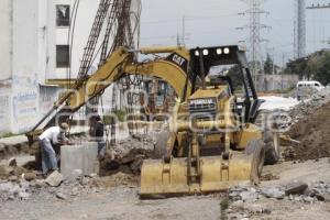
[[[264,169],[264,176],[272,174],[276,179],[263,182],[261,186],[278,186],[293,180],[304,180],[307,184],[314,182],[330,184],[329,167],[329,158],[304,163],[284,162],[267,166]],[[57,188],[50,188],[47,193],[40,190],[33,194],[29,200],[2,202],[0,219],[227,219],[220,206],[221,200],[226,199],[223,195],[140,200],[139,179],[130,178],[124,174],[119,176],[118,182],[109,179],[111,177],[100,177],[96,180],[97,185],[92,184],[95,187],[84,189],[88,193],[82,193],[82,190],[77,195],[66,193],[64,200],[56,198]],[[106,183],[117,184],[107,186]],[[229,210],[233,209],[231,206]],[[248,219],[330,219],[330,202],[304,204],[287,199],[262,198],[248,206],[250,206],[248,209],[267,207],[271,211],[270,213],[249,213]]]

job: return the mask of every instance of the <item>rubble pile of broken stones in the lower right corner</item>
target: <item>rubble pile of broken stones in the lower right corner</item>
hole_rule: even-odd
[[[266,204],[266,199],[306,205],[330,202],[330,186],[323,182],[312,183],[310,186],[294,182],[277,187],[235,187],[229,191],[228,216],[230,219],[244,219],[253,215],[270,215],[273,207],[262,205]]]

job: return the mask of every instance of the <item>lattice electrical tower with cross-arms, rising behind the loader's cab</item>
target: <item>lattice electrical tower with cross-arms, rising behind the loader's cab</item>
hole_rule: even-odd
[[[267,14],[267,11],[261,9],[264,0],[242,0],[244,3],[249,4],[249,9],[240,15],[249,16],[249,24],[239,30],[248,29],[250,31],[249,35],[249,51],[250,51],[250,61],[251,61],[251,72],[254,79],[255,86],[260,88],[257,81],[258,76],[264,74],[263,68],[263,51],[262,43],[265,42],[261,36],[261,31],[263,29],[270,29],[270,26],[261,23],[261,15]]]

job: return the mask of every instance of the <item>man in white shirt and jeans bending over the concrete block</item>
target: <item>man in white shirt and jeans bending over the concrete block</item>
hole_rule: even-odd
[[[68,128],[67,123],[61,123],[59,127],[48,128],[38,136],[42,152],[43,175],[47,175],[50,172],[58,169],[54,145],[68,144],[68,139],[65,136],[65,132]]]

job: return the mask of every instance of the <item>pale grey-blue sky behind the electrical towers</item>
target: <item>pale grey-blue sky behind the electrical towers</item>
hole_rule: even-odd
[[[330,0],[306,0],[306,6],[311,3]],[[184,18],[188,47],[238,44],[249,40],[249,30],[237,30],[249,24],[249,16],[239,15],[248,9],[241,0],[142,0],[141,46],[176,45]],[[263,56],[268,53],[277,65],[284,65],[294,56],[294,0],[265,0],[262,9],[268,13],[261,22],[271,26],[261,34],[266,40]],[[306,11],[307,54],[329,47],[324,43],[330,38],[328,26],[330,9]]]

